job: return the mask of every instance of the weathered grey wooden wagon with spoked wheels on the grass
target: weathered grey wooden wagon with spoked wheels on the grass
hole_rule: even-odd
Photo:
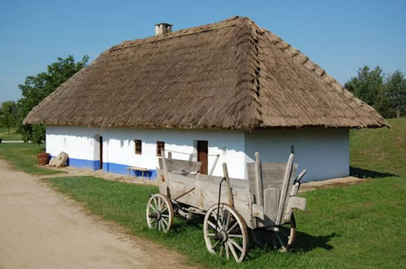
[[[209,176],[199,173],[200,162],[172,159],[170,153],[165,158],[162,152],[159,193],[147,204],[149,228],[168,232],[174,215],[189,219],[202,214],[205,244],[213,254],[242,262],[248,252],[248,228],[256,243],[261,240],[255,232],[266,231],[273,247],[287,251],[296,236],[292,209],[306,208],[306,199],[296,196],[306,170],[295,178],[293,152],[286,163],[260,162],[258,152],[255,157],[246,165],[248,180],[243,180],[229,178],[225,163],[224,177]]]

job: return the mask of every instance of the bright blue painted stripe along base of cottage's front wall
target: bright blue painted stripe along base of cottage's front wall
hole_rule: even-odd
[[[55,156],[52,156],[55,157]],[[90,160],[83,160],[83,159],[74,159],[69,158],[67,161],[67,165],[75,168],[82,168],[82,169],[91,169],[93,171],[100,169],[100,161],[90,161]],[[129,165],[121,165],[118,163],[103,163],[103,172],[114,173],[114,174],[123,174],[128,175]],[[130,171],[130,176],[137,176],[142,177],[142,171]],[[150,178],[151,180],[157,177],[157,171],[155,169],[148,169],[148,171],[144,172],[144,178]]]

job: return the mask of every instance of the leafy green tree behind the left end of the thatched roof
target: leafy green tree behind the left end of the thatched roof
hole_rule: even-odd
[[[32,143],[36,144],[45,141],[45,126],[43,124],[23,125],[23,119],[34,106],[85,67],[89,57],[85,55],[78,62],[75,62],[71,55],[65,59],[58,57],[57,60],[48,65],[46,72],[41,72],[35,76],[27,76],[25,83],[18,85],[23,97],[17,103],[19,110],[17,130],[22,134],[24,141],[32,141]]]

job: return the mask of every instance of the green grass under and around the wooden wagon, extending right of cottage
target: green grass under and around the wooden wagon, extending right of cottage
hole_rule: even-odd
[[[404,268],[406,261],[406,119],[391,119],[392,129],[350,134],[352,174],[367,182],[302,194],[307,210],[296,211],[298,236],[289,253],[259,247],[241,264],[208,254],[201,223],[175,219],[173,230],[149,230],[145,208],[156,187],[95,177],[48,179],[91,212],[188,256],[207,268]],[[1,146],[0,146],[1,149]],[[1,153],[1,151],[0,151]]]

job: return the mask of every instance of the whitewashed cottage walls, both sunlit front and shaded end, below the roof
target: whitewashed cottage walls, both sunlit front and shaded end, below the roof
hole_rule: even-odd
[[[99,160],[99,144],[94,137],[103,137],[103,170],[125,173],[125,166],[155,170],[158,167],[156,142],[164,141],[165,149],[176,152],[196,152],[196,140],[209,143],[208,171],[216,154],[220,159],[214,170],[222,176],[222,163],[227,163],[229,176],[246,178],[246,162],[255,160],[285,162],[291,146],[295,147],[298,172],[307,169],[304,181],[348,176],[349,133],[346,129],[254,130],[253,132],[100,129],[74,126],[47,126],[46,150],[52,156],[61,151],[69,154],[72,166],[91,167]],[[135,154],[134,140],[142,141],[142,155]],[[173,158],[188,159],[186,154],[173,153]],[[87,163],[85,161],[88,161]]]

